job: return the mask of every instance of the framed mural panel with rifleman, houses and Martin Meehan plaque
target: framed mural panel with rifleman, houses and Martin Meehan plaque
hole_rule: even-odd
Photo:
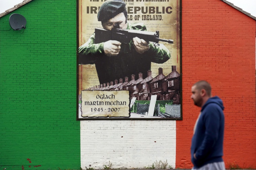
[[[182,120],[181,0],[77,3],[77,120]]]

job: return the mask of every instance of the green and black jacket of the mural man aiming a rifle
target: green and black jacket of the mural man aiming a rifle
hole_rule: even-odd
[[[128,22],[127,30],[130,29],[147,31],[142,23]],[[132,74],[136,80],[139,73],[145,79],[148,76],[147,71],[151,70],[151,62],[164,63],[170,59],[170,52],[163,44],[155,46],[149,43],[149,50],[139,54],[135,51],[132,40],[129,44],[122,43],[118,56],[108,57],[104,54],[104,43],[94,44],[94,40],[95,33],[79,47],[78,64],[95,64],[100,84],[131,77]]]

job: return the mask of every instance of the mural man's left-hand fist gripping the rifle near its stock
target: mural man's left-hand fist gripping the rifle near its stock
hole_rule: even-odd
[[[121,43],[115,40],[104,42],[103,50],[107,56],[117,56],[121,49]]]

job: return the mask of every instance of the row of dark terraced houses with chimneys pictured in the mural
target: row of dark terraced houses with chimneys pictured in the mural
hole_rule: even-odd
[[[148,76],[143,79],[142,73],[139,73],[139,78],[135,80],[135,75],[131,75],[131,80],[128,77],[123,79],[100,84],[87,90],[101,91],[119,91],[129,90],[130,99],[136,97],[136,100],[150,100],[152,95],[157,95],[157,100],[173,100],[173,104],[180,104],[180,74],[176,71],[176,66],[171,66],[171,73],[165,76],[163,69],[158,68],[158,75],[153,78],[152,71],[148,71]]]

